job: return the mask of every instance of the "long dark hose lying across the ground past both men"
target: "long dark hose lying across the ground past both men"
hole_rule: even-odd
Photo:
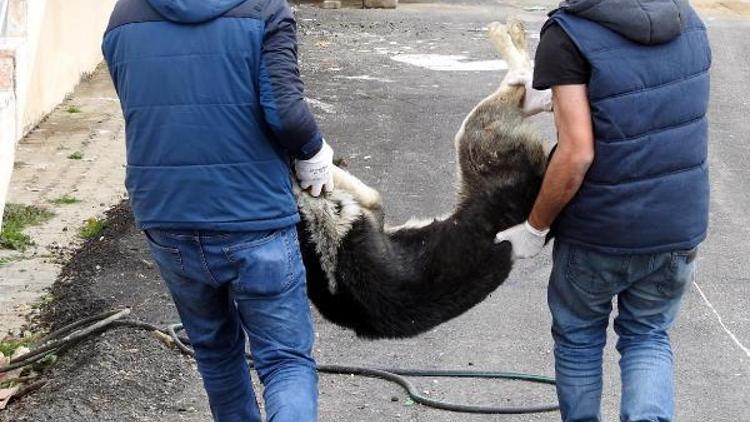
[[[10,361],[6,366],[0,366],[0,374],[32,365],[50,353],[67,350],[78,345],[86,338],[101,334],[116,327],[130,327],[147,331],[159,332],[169,336],[180,351],[194,356],[193,349],[188,347],[189,340],[180,337],[182,324],[172,324],[166,329],[146,322],[122,319],[130,314],[130,309],[116,309],[81,319],[72,324],[61,327],[48,334],[44,339],[35,343],[35,349]],[[248,355],[252,365],[252,357]],[[538,405],[528,407],[491,407],[449,403],[425,397],[419,393],[414,384],[406,377],[442,377],[442,378],[474,378],[474,379],[504,379],[531,382],[537,384],[554,385],[555,380],[549,377],[517,372],[488,372],[488,371],[455,371],[455,370],[421,370],[421,369],[378,369],[348,365],[318,365],[318,372],[324,374],[357,375],[368,378],[378,378],[399,385],[415,403],[435,409],[461,413],[481,414],[529,414],[554,412],[559,410],[557,405]]]

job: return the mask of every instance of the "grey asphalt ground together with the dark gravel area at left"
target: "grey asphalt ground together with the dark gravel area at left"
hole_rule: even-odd
[[[484,27],[517,15],[531,33],[551,1],[518,4],[465,0],[402,2],[397,11],[298,8],[302,71],[321,128],[349,170],[379,189],[387,219],[450,211],[454,197],[452,138],[465,114],[499,82]],[[714,70],[711,102],[711,232],[701,249],[696,284],[673,331],[680,421],[750,420],[750,20],[707,12]],[[532,40],[534,43],[535,40]],[[463,56],[445,57],[445,56]],[[553,135],[549,116],[535,118]],[[689,192],[686,192],[689,194]],[[679,216],[676,216],[679,218]],[[45,310],[62,323],[129,305],[159,323],[175,318],[145,244],[127,220],[74,257]],[[98,267],[97,267],[98,266]],[[549,248],[521,262],[490,298],[414,339],[363,341],[316,316],[321,364],[485,369],[553,374],[545,302]],[[610,338],[613,339],[612,337]],[[89,353],[90,355],[87,355]],[[606,350],[605,420],[617,420],[617,356]],[[71,356],[75,355],[75,356]],[[140,359],[143,357],[142,359]],[[118,330],[53,369],[53,381],[0,413],[13,421],[199,421],[205,398],[191,363],[139,333]],[[549,387],[509,382],[416,380],[432,397],[474,404],[523,405],[554,400]],[[321,421],[554,421],[556,413],[481,416],[424,408],[397,387],[349,376],[320,378]],[[393,398],[396,398],[394,401]]]

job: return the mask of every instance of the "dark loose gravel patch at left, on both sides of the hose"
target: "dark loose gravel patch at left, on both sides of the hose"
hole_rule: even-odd
[[[117,307],[157,324],[177,321],[129,207],[107,212],[107,227],[63,267],[37,326],[58,328]],[[192,359],[152,334],[115,329],[59,357],[48,383],[0,412],[0,422],[206,421],[205,393]]]

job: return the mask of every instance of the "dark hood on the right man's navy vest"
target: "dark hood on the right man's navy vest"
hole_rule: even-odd
[[[687,0],[565,0],[560,9],[595,21],[639,44],[677,38],[687,21]]]

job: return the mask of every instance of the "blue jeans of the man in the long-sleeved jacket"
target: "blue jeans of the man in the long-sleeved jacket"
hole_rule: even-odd
[[[195,348],[214,420],[261,420],[247,336],[268,420],[315,421],[314,334],[296,228],[146,236]]]

